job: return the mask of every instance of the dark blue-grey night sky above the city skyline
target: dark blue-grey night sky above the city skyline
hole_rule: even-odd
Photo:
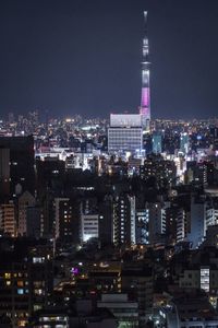
[[[0,0],[1,114],[137,112],[143,10],[153,118],[217,115],[218,0]]]

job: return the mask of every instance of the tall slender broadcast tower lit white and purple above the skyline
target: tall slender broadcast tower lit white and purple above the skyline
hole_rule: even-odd
[[[144,11],[145,37],[143,38],[143,62],[142,62],[142,98],[140,114],[146,129],[149,129],[150,120],[150,89],[149,89],[149,60],[148,60],[148,38],[147,38],[147,11]]]

